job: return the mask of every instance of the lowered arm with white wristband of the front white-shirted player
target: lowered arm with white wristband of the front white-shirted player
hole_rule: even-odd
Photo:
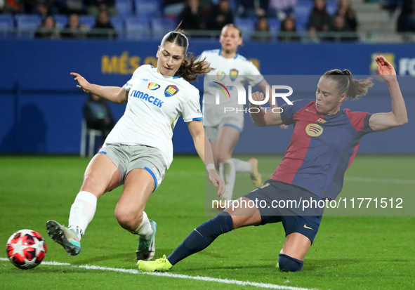
[[[187,122],[187,127],[189,128],[190,135],[192,135],[193,143],[195,143],[197,154],[199,154],[206,170],[208,170],[209,180],[215,187],[218,187],[218,196],[223,195],[223,192],[225,192],[225,182],[216,173],[211,144],[204,133],[202,121]]]

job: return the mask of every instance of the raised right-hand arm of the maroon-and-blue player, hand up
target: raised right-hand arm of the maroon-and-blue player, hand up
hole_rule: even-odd
[[[402,97],[400,86],[397,82],[395,69],[381,55],[376,56],[375,60],[378,64],[379,74],[389,87],[390,98],[392,99],[392,112],[372,114],[369,119],[369,126],[373,131],[385,131],[407,124],[408,115],[404,98]]]

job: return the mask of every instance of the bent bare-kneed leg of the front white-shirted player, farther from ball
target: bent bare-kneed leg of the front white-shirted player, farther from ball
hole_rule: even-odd
[[[126,176],[124,190],[115,209],[122,228],[138,235],[136,258],[151,260],[155,253],[157,223],[149,220],[145,204],[155,187],[154,178],[145,169],[133,169]]]

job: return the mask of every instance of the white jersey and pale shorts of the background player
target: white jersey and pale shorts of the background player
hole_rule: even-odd
[[[210,62],[210,66],[215,70],[208,72],[204,77],[204,95],[203,95],[203,114],[204,126],[218,126],[223,117],[242,118],[244,114],[238,110],[243,110],[244,105],[238,105],[237,89],[234,86],[227,86],[230,98],[220,95],[220,104],[216,105],[216,91],[218,84],[213,83],[239,83],[244,85],[248,81],[251,86],[256,86],[263,81],[261,72],[256,68],[250,60],[246,60],[242,55],[237,54],[235,58],[223,58],[220,55],[220,49],[213,51],[204,51],[199,59],[206,58]],[[246,91],[246,93],[248,93]],[[235,108],[233,112],[224,114],[225,107]]]

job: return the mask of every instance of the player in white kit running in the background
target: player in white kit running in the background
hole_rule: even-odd
[[[235,173],[246,172],[251,175],[253,185],[262,184],[261,174],[258,172],[258,160],[249,159],[248,162],[232,158],[232,152],[237,145],[239,136],[244,128],[244,105],[238,105],[237,90],[227,86],[230,98],[220,98],[216,105],[216,81],[223,83],[244,84],[248,81],[251,86],[258,85],[265,93],[268,82],[261,75],[255,65],[237,53],[242,44],[242,31],[237,25],[225,25],[220,33],[221,49],[204,51],[201,60],[210,62],[215,70],[208,72],[204,77],[203,114],[204,129],[211,143],[215,164],[218,164],[220,177],[225,180],[226,190],[223,200],[231,200],[235,185]],[[276,105],[275,105],[276,106]],[[224,113],[225,107],[235,108]],[[274,106],[273,106],[274,107]],[[238,109],[238,110],[237,110]]]

